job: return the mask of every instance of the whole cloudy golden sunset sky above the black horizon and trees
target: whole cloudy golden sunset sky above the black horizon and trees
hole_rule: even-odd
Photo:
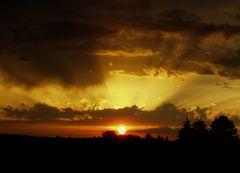
[[[240,123],[239,0],[9,0],[0,25],[0,133]]]

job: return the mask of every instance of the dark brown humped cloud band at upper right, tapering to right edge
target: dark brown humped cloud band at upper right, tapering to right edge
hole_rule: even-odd
[[[240,33],[240,26],[206,23],[197,15],[179,9],[164,11],[158,16],[155,26],[159,30],[183,32],[201,38],[215,32],[222,32],[226,37]]]

